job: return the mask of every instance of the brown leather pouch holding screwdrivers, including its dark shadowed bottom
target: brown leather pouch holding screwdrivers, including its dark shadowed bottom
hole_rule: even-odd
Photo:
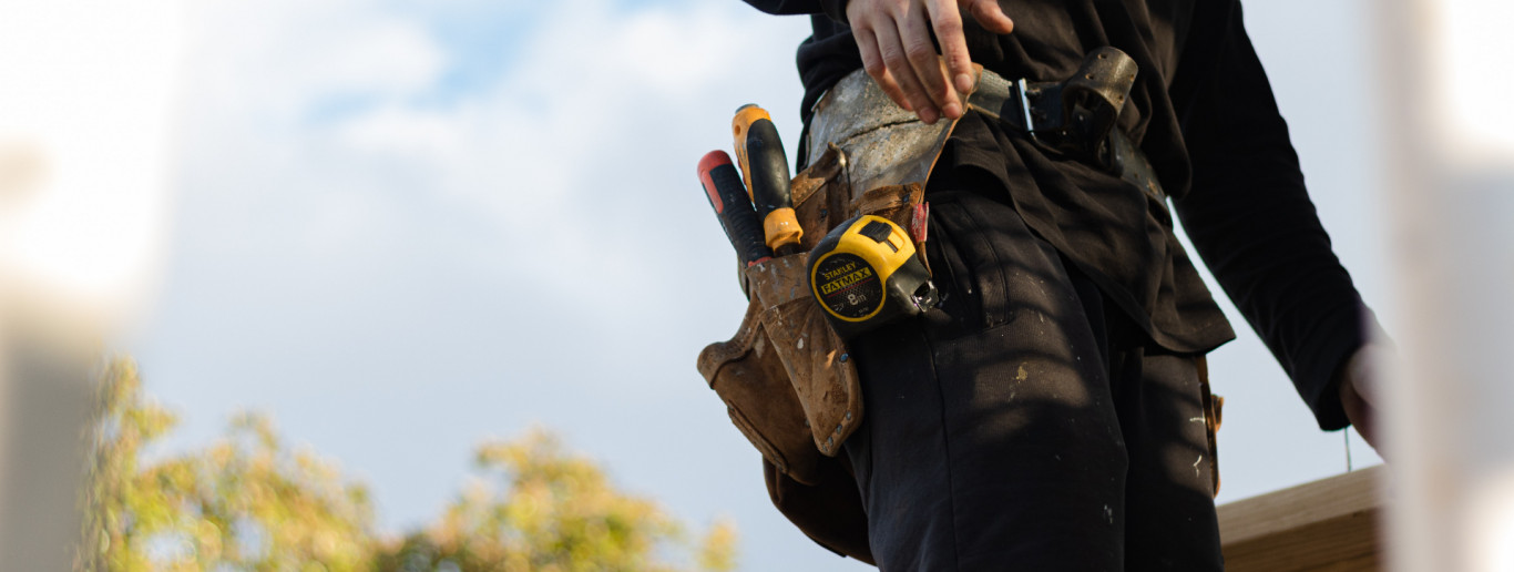
[[[854,213],[899,221],[924,195],[921,185],[896,185],[852,200],[839,157],[839,150],[828,150],[793,180],[805,251]],[[754,265],[743,278],[751,301],[742,325],[730,340],[699,353],[699,374],[762,451],[774,505],[816,543],[872,563],[851,466],[845,455],[836,457],[861,422],[857,365],[810,297],[808,254]]]

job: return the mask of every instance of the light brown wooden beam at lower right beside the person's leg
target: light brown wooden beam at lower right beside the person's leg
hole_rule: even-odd
[[[1382,466],[1219,507],[1225,569],[1378,570]]]

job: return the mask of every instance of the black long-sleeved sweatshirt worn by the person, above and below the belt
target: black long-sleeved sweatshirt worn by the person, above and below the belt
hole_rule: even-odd
[[[861,68],[846,0],[745,2],[812,15],[813,35],[798,53],[808,121],[825,89]],[[1136,59],[1120,127],[1151,157],[1188,238],[1320,427],[1344,427],[1335,371],[1375,322],[1320,227],[1240,3],[1020,0],[1005,12],[1014,32],[1004,36],[963,18],[972,61],[1004,77],[1063,80],[1104,45]],[[1158,345],[1198,353],[1234,337],[1164,204],[978,115],[958,123],[942,157],[939,168],[996,179],[999,198]]]

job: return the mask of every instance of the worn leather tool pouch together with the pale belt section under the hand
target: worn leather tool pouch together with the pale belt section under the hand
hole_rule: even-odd
[[[857,365],[810,295],[808,251],[855,215],[910,228],[949,135],[951,123],[921,123],[866,74],[831,88],[810,123],[810,166],[792,186],[804,253],[742,271],[742,325],[698,360],[731,422],[762,451],[774,505],[819,545],[868,563],[861,498],[846,455],[837,457],[863,416]]]

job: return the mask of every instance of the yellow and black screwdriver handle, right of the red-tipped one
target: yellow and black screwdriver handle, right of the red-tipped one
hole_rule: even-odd
[[[757,207],[768,247],[777,256],[796,254],[804,228],[793,215],[789,191],[789,157],[778,139],[778,127],[768,110],[745,104],[731,118],[736,160],[746,176],[746,195]]]

